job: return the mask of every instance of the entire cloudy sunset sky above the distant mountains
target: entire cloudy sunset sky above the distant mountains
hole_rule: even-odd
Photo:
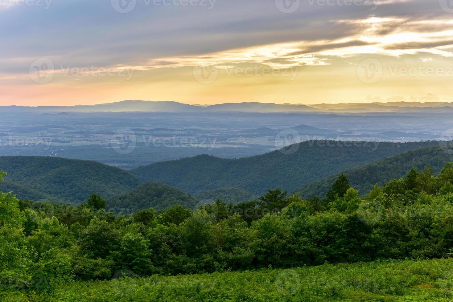
[[[453,0],[0,0],[0,105],[453,101]]]

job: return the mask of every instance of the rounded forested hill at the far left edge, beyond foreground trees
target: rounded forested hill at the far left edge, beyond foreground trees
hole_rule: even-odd
[[[120,168],[77,159],[2,156],[0,170],[8,173],[0,191],[13,191],[19,199],[78,204],[92,193],[109,198],[140,184]]]

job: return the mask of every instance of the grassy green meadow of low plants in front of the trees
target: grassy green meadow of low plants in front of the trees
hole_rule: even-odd
[[[453,259],[324,264],[54,284],[5,301],[452,301]]]

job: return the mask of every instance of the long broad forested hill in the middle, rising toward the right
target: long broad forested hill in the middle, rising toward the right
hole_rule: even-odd
[[[390,143],[307,141],[295,149],[239,159],[208,155],[153,163],[131,170],[144,182],[160,182],[191,194],[237,187],[253,194],[281,187],[294,192],[305,184],[364,163],[438,142]],[[296,145],[297,147],[297,145]],[[294,148],[291,146],[290,148]]]

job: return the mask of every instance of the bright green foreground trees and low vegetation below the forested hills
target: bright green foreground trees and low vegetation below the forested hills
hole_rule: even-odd
[[[422,172],[410,169],[407,175],[391,180],[382,188],[375,186],[367,198],[359,198],[359,192],[349,187],[344,174],[333,182],[334,194],[328,202],[319,202],[316,197],[305,200],[298,195],[287,196],[277,188],[258,201],[237,205],[217,200],[194,211],[173,206],[160,213],[149,208],[132,215],[106,212],[102,198],[96,195],[85,206],[73,208],[50,202],[19,202],[11,193],[1,193],[0,279],[12,285],[0,289],[0,298],[8,301],[14,295],[22,295],[35,300],[37,297],[74,299],[75,292],[65,288],[68,282],[81,292],[87,291],[90,297],[107,301],[125,297],[140,300],[143,292],[156,300],[189,301],[293,298],[299,301],[317,295],[337,300],[354,300],[354,297],[357,300],[367,295],[370,299],[385,300],[410,299],[420,292],[428,300],[452,297],[445,290],[451,278],[445,268],[451,270],[451,259],[433,261],[433,268],[423,261],[406,260],[401,265],[387,261],[450,257],[452,181],[453,164],[446,163],[438,176],[429,169]],[[371,261],[376,262],[344,264]],[[328,264],[339,264],[338,271]],[[320,267],[306,268],[313,265]],[[280,269],[265,271],[265,268],[292,268],[296,273]],[[244,278],[237,277],[241,273],[228,272],[251,269],[259,270]],[[357,291],[353,281],[344,281],[350,278],[349,273],[370,276],[370,270],[375,270],[372,275],[382,279],[373,279],[372,285]],[[214,288],[190,283],[195,285],[182,291],[177,285],[147,286],[142,283],[146,279],[96,281],[124,274],[137,278],[151,276],[151,280],[156,280],[166,278],[162,275],[215,273],[218,276],[221,272],[228,278],[239,278],[237,285],[231,285],[234,279],[221,279]],[[329,279],[334,274],[343,279]],[[308,279],[301,282],[304,286],[299,292],[298,287],[294,289],[287,281],[307,275],[322,277],[329,285],[319,286]],[[173,278],[165,280],[186,282],[185,278],[189,277]],[[44,284],[48,285],[42,286],[39,280],[45,280]],[[239,284],[248,288],[249,283],[254,284],[253,280],[262,284],[263,288],[256,286],[259,292],[252,290],[253,287],[250,292],[239,290]],[[112,292],[105,284],[116,284],[112,285],[116,289]],[[414,288],[423,284],[433,289]],[[90,292],[98,286],[102,296]],[[140,291],[135,291],[135,286]],[[120,296],[116,295],[118,290]],[[286,293],[283,298],[282,292]],[[349,296],[351,293],[354,295]]]

